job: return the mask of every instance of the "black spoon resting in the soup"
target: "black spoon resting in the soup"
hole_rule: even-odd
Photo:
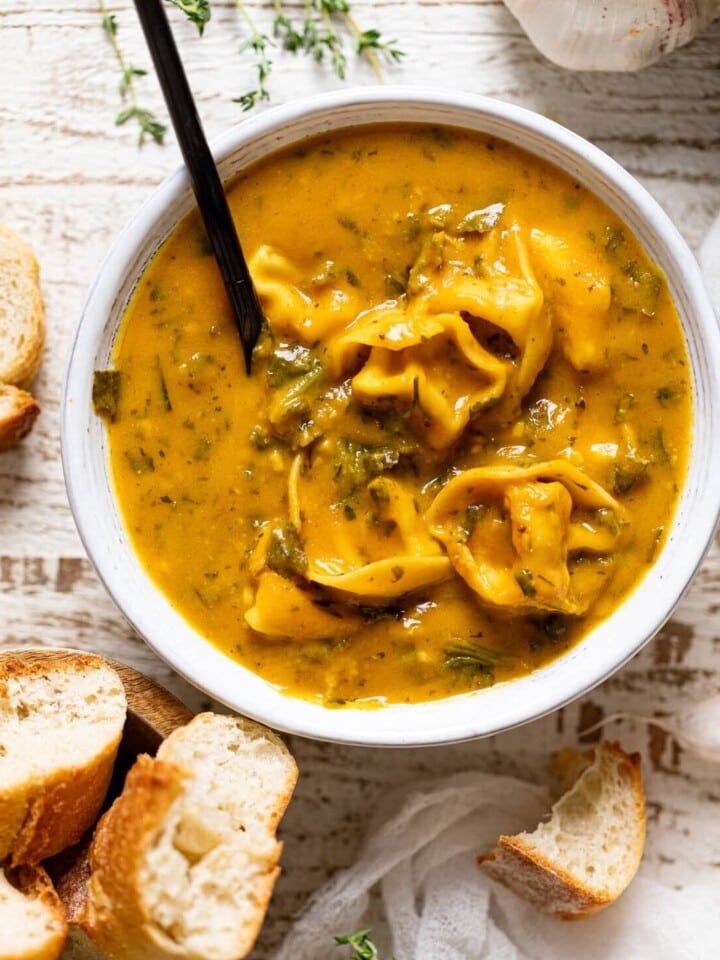
[[[165,103],[175,128],[195,199],[230,299],[250,373],[253,347],[260,336],[263,312],[240,246],[215,161],[175,46],[162,0],[135,0],[135,7]]]

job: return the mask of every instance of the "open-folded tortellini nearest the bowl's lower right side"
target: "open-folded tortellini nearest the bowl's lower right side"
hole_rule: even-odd
[[[485,603],[580,615],[607,582],[624,519],[599,484],[551,460],[466,470],[437,495],[428,524]]]

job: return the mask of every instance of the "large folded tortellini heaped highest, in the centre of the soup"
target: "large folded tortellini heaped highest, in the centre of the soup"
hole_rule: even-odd
[[[513,227],[472,242],[433,234],[406,297],[360,314],[327,354],[336,374],[354,372],[356,396],[410,409],[430,446],[444,449],[508,391],[517,406],[551,346],[543,294]]]

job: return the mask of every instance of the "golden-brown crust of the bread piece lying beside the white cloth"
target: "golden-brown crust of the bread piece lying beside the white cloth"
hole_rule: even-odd
[[[567,759],[567,758],[566,758]],[[635,876],[645,845],[645,795],[640,771],[640,755],[626,754],[617,743],[603,743],[588,765],[587,758],[578,757],[576,783],[553,807],[553,816],[538,830],[546,831],[557,819],[557,810],[575,791],[582,792],[583,779],[589,771],[597,771],[601,764],[622,783],[626,820],[615,826],[622,836],[623,868],[614,876],[605,876],[601,869],[587,877],[573,872],[571,864],[543,849],[535,833],[501,836],[497,846],[478,857],[485,873],[509,887],[544,913],[561,920],[579,920],[602,910],[612,903]],[[565,763],[563,764],[565,765]],[[602,836],[594,839],[602,842]],[[567,840],[566,840],[567,842]],[[587,841],[585,841],[587,842]],[[607,850],[603,850],[607,854]]]

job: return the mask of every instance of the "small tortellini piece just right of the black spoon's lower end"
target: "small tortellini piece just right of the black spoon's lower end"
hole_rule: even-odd
[[[270,329],[277,337],[312,344],[341,330],[356,316],[357,298],[332,282],[301,289],[303,271],[268,245],[249,262]],[[307,289],[307,285],[304,284]]]

